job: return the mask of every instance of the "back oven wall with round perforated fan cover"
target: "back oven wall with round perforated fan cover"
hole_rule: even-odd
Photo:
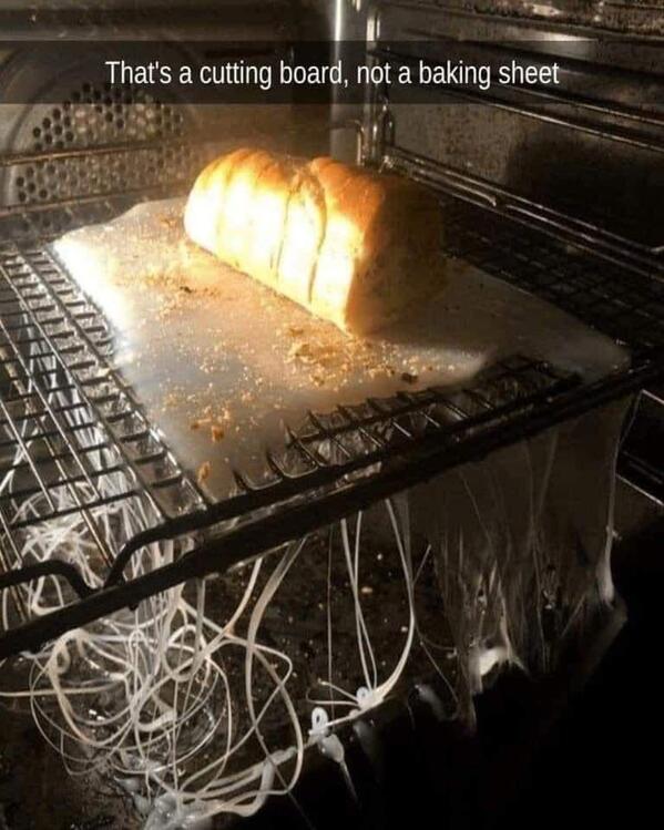
[[[126,3],[52,2],[31,17],[30,10],[0,4],[0,101],[13,96],[22,104],[0,103],[0,160],[16,154],[40,155],[135,142],[180,142],[182,146],[91,158],[48,158],[0,164],[0,206],[31,205],[96,193],[155,187],[171,181],[186,186],[214,154],[243,144],[303,155],[329,147],[326,106],[188,105],[150,102],[141,90],[96,89],[89,68],[70,60],[58,39],[122,38],[133,33],[161,39],[204,39],[222,42],[273,43],[328,37],[324,4],[309,0],[171,3],[151,0],[127,11]],[[79,12],[85,7],[91,17]],[[164,23],[154,9],[167,8]],[[122,11],[124,10],[124,11]],[[94,24],[93,24],[94,23]],[[60,55],[55,75],[41,51],[22,38],[50,40]],[[1,45],[1,44],[0,44]],[[237,57],[237,54],[235,55]],[[242,55],[241,55],[242,57]],[[44,90],[58,103],[44,104]],[[196,137],[193,148],[186,144]]]

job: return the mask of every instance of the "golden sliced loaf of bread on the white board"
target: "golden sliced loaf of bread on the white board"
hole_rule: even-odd
[[[381,328],[445,281],[436,197],[333,158],[224,155],[196,180],[184,224],[219,259],[345,331]]]

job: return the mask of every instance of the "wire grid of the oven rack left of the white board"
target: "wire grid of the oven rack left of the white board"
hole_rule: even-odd
[[[0,245],[0,564],[27,534],[79,514],[100,568],[126,540],[103,511],[141,502],[162,523],[202,503],[109,363],[105,320],[41,246]],[[74,577],[75,578],[75,577]],[[21,617],[19,592],[14,603]]]

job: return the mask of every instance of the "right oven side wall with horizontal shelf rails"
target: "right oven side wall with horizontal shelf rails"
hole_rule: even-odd
[[[560,62],[562,83],[420,94],[391,106],[396,144],[630,242],[664,245],[664,52],[651,37],[664,9],[644,33],[641,17],[616,17],[613,3],[474,6],[481,13],[466,2],[379,3],[380,41],[426,38],[441,60],[450,39],[491,43],[493,54],[498,45],[504,61],[543,52]],[[621,21],[629,40],[615,37]]]

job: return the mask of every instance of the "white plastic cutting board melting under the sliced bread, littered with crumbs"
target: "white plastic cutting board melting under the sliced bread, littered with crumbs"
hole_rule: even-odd
[[[458,260],[409,320],[350,338],[190,243],[183,205],[137,205],[52,248],[114,328],[115,365],[180,462],[194,475],[210,464],[214,499],[232,488],[233,467],[259,477],[264,449],[308,409],[459,382],[514,353],[588,379],[627,360],[569,315]]]

